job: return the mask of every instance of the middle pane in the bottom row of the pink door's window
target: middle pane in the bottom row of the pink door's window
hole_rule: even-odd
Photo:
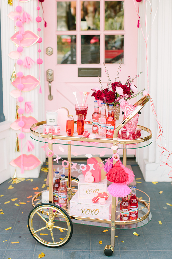
[[[100,35],[81,35],[81,64],[100,63]]]

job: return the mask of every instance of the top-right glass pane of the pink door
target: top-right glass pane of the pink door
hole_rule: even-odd
[[[124,2],[105,1],[105,31],[124,30]]]

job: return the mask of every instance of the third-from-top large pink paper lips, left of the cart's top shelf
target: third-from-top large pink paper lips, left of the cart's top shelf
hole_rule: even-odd
[[[32,116],[29,116],[29,117],[25,117],[25,116],[22,116],[22,120],[24,121],[25,123],[25,126],[22,128],[22,131],[23,132],[30,132],[30,127],[38,122],[34,117]],[[13,129],[13,130],[20,130],[20,127],[18,126],[18,122],[20,121],[20,118],[18,118],[17,120],[15,120],[11,125],[10,127]],[[36,127],[37,128],[37,127]],[[36,129],[35,128],[35,129]]]

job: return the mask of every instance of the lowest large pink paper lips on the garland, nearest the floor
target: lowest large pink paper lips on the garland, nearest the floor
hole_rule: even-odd
[[[21,167],[21,156],[18,156],[16,159],[14,159],[14,163]],[[34,155],[26,155],[23,154],[23,167],[24,170],[32,170],[36,167],[38,167],[41,164],[41,161]]]

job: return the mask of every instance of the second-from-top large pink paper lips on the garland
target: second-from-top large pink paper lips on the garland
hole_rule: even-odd
[[[20,78],[17,77],[15,80],[12,82],[12,85],[14,85],[15,88],[17,88],[17,85],[20,83]],[[21,84],[24,84],[24,89],[22,92],[28,92],[33,90],[40,84],[40,81],[31,75],[23,76],[21,77]]]

